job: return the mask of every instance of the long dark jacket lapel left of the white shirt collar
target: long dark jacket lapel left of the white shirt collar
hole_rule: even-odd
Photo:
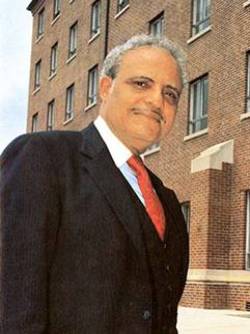
[[[117,219],[123,224],[138,253],[145,258],[145,247],[136,206],[131,203],[127,181],[115,166],[95,126],[83,131],[82,168],[96,183]]]

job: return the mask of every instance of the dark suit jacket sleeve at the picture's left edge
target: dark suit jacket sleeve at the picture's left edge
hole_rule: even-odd
[[[56,173],[38,134],[1,157],[0,333],[47,333],[48,276],[59,215]]]

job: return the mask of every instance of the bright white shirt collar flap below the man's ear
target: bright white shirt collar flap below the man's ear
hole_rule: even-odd
[[[94,125],[107,145],[115,165],[120,168],[132,156],[131,151],[114,135],[106,121],[100,115],[94,121]]]

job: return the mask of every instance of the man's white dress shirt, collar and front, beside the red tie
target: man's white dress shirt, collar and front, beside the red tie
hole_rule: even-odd
[[[127,164],[128,159],[132,156],[132,152],[114,135],[106,121],[100,115],[94,121],[94,125],[107,145],[116,167],[119,168],[140,201],[145,205],[136,174]]]

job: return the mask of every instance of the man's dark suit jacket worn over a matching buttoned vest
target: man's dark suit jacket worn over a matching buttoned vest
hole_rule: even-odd
[[[0,333],[152,333],[138,212],[95,127],[21,136],[1,168]],[[187,234],[173,191],[151,178],[171,217],[166,304],[176,333]]]

